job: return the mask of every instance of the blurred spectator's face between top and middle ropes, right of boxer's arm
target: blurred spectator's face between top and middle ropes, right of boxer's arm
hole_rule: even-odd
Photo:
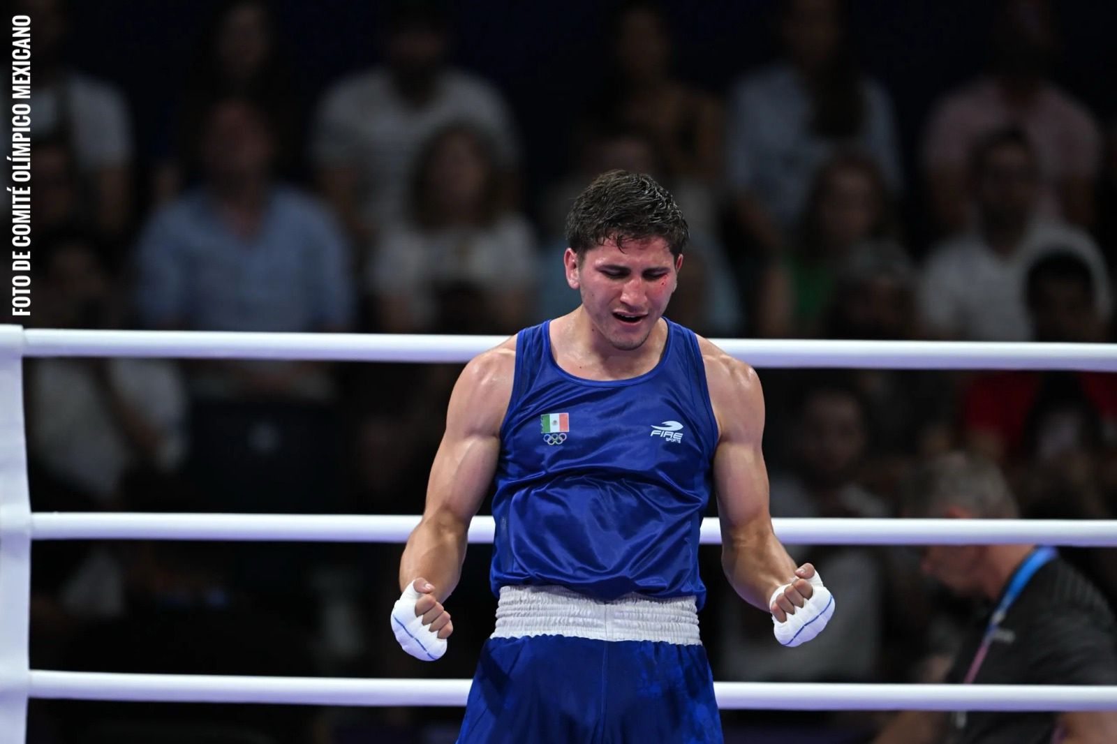
[[[853,477],[865,452],[865,414],[858,400],[841,390],[808,393],[796,448],[803,477],[811,486],[836,488]]]

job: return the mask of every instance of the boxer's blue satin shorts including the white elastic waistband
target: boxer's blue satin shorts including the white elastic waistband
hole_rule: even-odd
[[[693,597],[503,586],[458,744],[722,742]]]

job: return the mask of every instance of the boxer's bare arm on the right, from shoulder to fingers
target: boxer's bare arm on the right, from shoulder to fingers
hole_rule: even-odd
[[[718,427],[714,486],[722,524],[722,567],[742,599],[771,610],[772,592],[792,581],[796,566],[772,531],[768,515],[767,470],[761,451],[764,393],[751,366],[705,338],[699,345]],[[793,585],[804,597],[811,595],[808,582],[800,579]],[[777,619],[783,620],[779,614]]]

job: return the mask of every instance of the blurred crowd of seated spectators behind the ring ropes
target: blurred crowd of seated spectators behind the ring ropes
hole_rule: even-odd
[[[34,34],[34,325],[513,333],[577,305],[560,270],[565,213],[621,168],[653,174],[689,221],[668,316],[699,333],[1113,341],[1117,121],[1057,79],[1053,2],[999,2],[985,67],[936,93],[920,122],[898,121],[841,0],[756,3],[777,55],[736,66],[727,87],[677,70],[686,39],[670,3],[615,3],[601,13],[598,75],[577,82],[582,98],[552,101],[574,125],[548,145],[566,155],[547,159],[518,123],[536,115],[455,64],[468,40],[448,3],[381,3],[363,59],[321,90],[297,84],[314,53],[277,6],[202,4],[189,74],[166,82],[166,112],[140,116],[118,82],[83,71],[66,0],[16,0]],[[160,117],[159,132],[137,130]],[[32,506],[418,514],[458,369],[28,360]],[[996,462],[1028,517],[1117,516],[1111,374],[761,379],[774,516],[898,516],[918,462],[958,448]],[[934,680],[970,617],[914,553],[795,545],[857,612],[781,649],[704,550],[716,679]],[[400,551],[38,543],[32,667],[470,676],[495,608],[488,547],[470,547],[448,604],[451,651],[430,666],[400,652],[386,622]],[[1117,605],[1114,555],[1065,554]],[[441,742],[459,716],[36,703],[30,741]],[[727,741],[783,725],[725,722]],[[862,741],[876,724],[819,715],[793,741]]]

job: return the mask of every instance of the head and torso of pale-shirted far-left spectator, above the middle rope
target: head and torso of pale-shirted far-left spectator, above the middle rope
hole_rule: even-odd
[[[37,324],[116,328],[118,280],[87,232],[45,235]],[[164,360],[36,359],[27,362],[28,443],[52,478],[102,506],[118,504],[135,469],[173,470],[185,445],[185,394]]]

